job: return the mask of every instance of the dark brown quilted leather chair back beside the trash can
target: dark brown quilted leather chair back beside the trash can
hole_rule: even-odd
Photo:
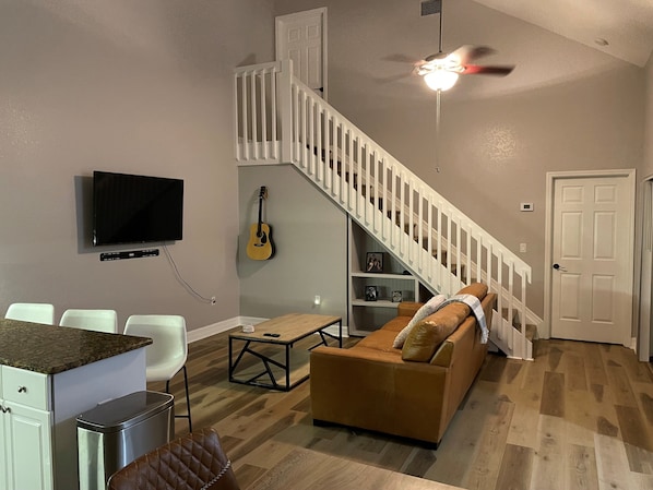
[[[191,432],[139,457],[108,490],[240,490],[215,429]]]

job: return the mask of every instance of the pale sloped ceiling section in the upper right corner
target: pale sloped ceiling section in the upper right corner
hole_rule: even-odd
[[[653,0],[476,1],[638,67],[651,57]]]

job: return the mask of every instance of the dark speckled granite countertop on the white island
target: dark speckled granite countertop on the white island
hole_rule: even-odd
[[[152,344],[151,338],[0,319],[0,364],[56,374]]]

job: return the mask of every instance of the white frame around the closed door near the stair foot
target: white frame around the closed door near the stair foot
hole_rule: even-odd
[[[572,170],[572,171],[549,171],[546,174],[546,213],[545,213],[545,246],[544,246],[544,324],[542,332],[537,332],[541,338],[551,336],[551,287],[553,287],[553,248],[554,248],[554,189],[557,180],[578,178],[601,178],[601,177],[625,177],[631,198],[629,202],[627,260],[630,271],[630,285],[634,298],[634,210],[636,210],[636,170],[634,168],[614,170]],[[631,304],[634,309],[634,301]],[[630,325],[630,338],[632,342],[632,325],[636,316],[632,315]],[[633,347],[633,346],[631,346]]]

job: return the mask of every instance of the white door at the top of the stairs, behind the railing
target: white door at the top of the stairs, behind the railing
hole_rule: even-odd
[[[293,72],[326,99],[326,9],[276,17],[276,59],[293,60]]]

